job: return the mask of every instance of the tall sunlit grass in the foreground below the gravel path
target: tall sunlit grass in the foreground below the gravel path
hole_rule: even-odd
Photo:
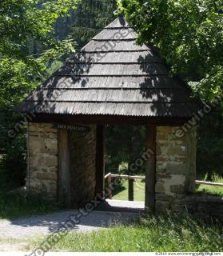
[[[30,243],[26,250],[38,248],[45,239]],[[52,251],[70,252],[175,252],[222,251],[222,228],[187,216],[145,218],[125,226],[92,233],[66,235]]]

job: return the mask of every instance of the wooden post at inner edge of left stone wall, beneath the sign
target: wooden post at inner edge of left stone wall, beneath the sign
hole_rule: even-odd
[[[70,152],[67,130],[58,130],[58,199],[70,207]]]

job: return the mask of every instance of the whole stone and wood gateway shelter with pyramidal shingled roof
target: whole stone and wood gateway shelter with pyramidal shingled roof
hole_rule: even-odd
[[[195,185],[197,111],[153,46],[116,18],[17,110],[30,113],[27,186],[82,206],[104,190],[104,126],[147,126],[145,205],[177,209]],[[182,126],[182,127],[180,127]],[[186,127],[187,132],[185,131]],[[174,208],[175,207],[175,208]]]

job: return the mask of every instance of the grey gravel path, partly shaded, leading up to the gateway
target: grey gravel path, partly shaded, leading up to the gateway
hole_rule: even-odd
[[[0,238],[32,238],[54,233],[70,215],[78,211],[68,210],[54,214],[34,216],[17,220],[0,222]],[[112,226],[117,223],[129,222],[137,218],[137,213],[115,213],[93,211],[87,217],[82,217],[79,225],[75,227],[77,232],[88,232]]]

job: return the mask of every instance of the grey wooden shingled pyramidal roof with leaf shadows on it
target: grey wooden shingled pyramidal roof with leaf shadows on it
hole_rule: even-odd
[[[116,18],[16,110],[38,114],[191,117],[189,87]]]

